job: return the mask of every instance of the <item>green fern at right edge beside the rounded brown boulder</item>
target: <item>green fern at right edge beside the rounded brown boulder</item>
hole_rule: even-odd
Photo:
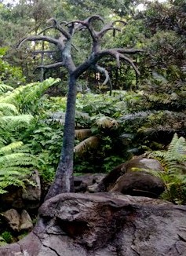
[[[164,172],[153,172],[162,179],[166,191],[162,198],[173,203],[186,204],[186,141],[184,137],[174,134],[167,151],[151,152],[151,157],[159,159],[164,165]]]

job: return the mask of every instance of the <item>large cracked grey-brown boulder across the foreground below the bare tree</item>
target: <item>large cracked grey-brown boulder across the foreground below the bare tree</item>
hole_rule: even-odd
[[[186,206],[120,193],[64,193],[2,256],[185,256]]]

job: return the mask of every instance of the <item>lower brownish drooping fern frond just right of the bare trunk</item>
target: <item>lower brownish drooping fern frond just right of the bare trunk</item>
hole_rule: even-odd
[[[86,140],[77,144],[74,148],[75,153],[85,152],[89,148],[97,148],[99,144],[99,138],[97,136],[88,137]]]

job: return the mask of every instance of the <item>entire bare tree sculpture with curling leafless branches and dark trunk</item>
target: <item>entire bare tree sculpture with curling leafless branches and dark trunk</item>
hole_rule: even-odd
[[[93,27],[93,20],[100,20],[103,23],[102,29],[96,31]],[[19,46],[26,41],[46,41],[57,46],[60,50],[61,61],[49,64],[42,65],[38,68],[57,68],[64,67],[68,71],[69,80],[68,80],[68,93],[67,93],[67,110],[65,115],[64,123],[64,139],[63,146],[60,155],[60,162],[57,167],[57,173],[53,185],[49,188],[49,192],[46,196],[46,199],[49,199],[52,196],[56,196],[61,192],[73,192],[73,153],[74,153],[74,141],[75,141],[75,101],[76,101],[76,81],[82,73],[88,69],[94,69],[105,75],[104,84],[109,82],[108,71],[100,67],[97,64],[98,60],[101,60],[103,57],[110,56],[115,58],[116,64],[120,67],[120,61],[124,60],[128,62],[133,69],[136,71],[137,75],[140,75],[136,65],[133,63],[133,60],[128,57],[129,54],[140,53],[141,49],[125,49],[125,48],[113,48],[113,49],[101,49],[101,40],[108,31],[120,31],[119,28],[115,27],[117,22],[126,24],[122,20],[116,20],[109,24],[104,24],[104,20],[101,16],[89,16],[86,20],[74,20],[70,23],[63,22],[58,23],[54,18],[50,19],[49,22],[52,23],[51,26],[46,27],[40,34],[49,29],[56,29],[60,32],[59,38],[52,38],[46,35],[36,35],[28,36],[24,38]],[[89,54],[88,59],[86,59],[78,67],[75,66],[75,63],[72,58],[71,49],[72,37],[77,31],[88,30],[89,35],[92,38],[92,50]]]

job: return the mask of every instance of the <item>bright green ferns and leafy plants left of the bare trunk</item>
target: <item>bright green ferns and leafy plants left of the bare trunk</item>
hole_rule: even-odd
[[[63,133],[59,132],[58,136],[55,130],[51,138],[51,133],[47,134],[50,128],[44,126],[42,130],[42,120],[39,121],[40,130],[37,124],[38,115],[40,119],[46,116],[47,108],[44,108],[43,103],[47,99],[43,97],[43,93],[56,82],[58,81],[48,79],[42,83],[20,86],[14,90],[9,86],[0,86],[0,193],[5,192],[5,188],[9,185],[24,187],[27,174],[33,168],[40,168],[42,174],[46,170],[43,175],[51,181],[56,166],[47,168],[47,163],[50,164],[52,157],[55,159],[53,164],[57,165],[59,155],[52,153],[51,156],[49,152],[46,153],[46,149],[53,152],[54,144],[55,146],[57,143],[61,144],[60,135]],[[28,112],[32,115],[27,115]],[[31,132],[35,136],[34,139]],[[40,133],[45,136],[44,140],[41,136],[38,137]],[[34,156],[36,154],[37,158]]]

